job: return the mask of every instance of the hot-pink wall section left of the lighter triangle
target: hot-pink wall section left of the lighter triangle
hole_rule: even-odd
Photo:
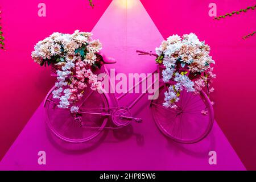
[[[46,17],[38,16],[38,4],[46,3]],[[1,1],[2,26],[6,51],[0,50],[1,122],[0,159],[42,102],[54,79],[49,69],[40,68],[31,59],[34,45],[52,32],[91,31],[108,7],[110,0],[67,3],[50,1]]]

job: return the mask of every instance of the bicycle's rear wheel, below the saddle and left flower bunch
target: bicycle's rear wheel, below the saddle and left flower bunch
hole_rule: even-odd
[[[108,122],[108,116],[96,114],[79,114],[78,116],[71,113],[69,109],[57,107],[59,100],[53,98],[53,87],[48,93],[45,110],[46,123],[49,129],[61,140],[70,143],[88,142],[97,137]],[[80,109],[86,112],[108,113],[108,101],[104,94],[93,91],[90,88],[84,90],[84,97],[78,103]],[[76,119],[80,118],[80,122]],[[81,123],[83,125],[81,125]]]

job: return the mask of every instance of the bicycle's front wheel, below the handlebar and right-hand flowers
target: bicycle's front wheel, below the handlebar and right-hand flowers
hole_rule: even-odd
[[[207,137],[214,121],[207,95],[203,91],[195,95],[183,90],[176,103],[179,109],[171,109],[162,105],[167,89],[167,86],[159,88],[158,99],[151,102],[152,116],[159,130],[179,143],[196,143]]]

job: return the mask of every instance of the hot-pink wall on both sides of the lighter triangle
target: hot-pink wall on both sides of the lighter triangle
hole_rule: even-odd
[[[92,10],[84,0],[72,3],[43,1],[47,4],[47,17],[39,18],[39,2],[42,1],[0,2],[7,48],[0,55],[0,71],[4,75],[0,106],[0,156],[11,146],[54,81],[48,76],[48,70],[31,63],[30,52],[34,44],[53,31],[92,30],[110,3],[96,1]],[[255,35],[241,39],[255,31],[256,10],[217,22],[208,16],[210,2],[162,0],[155,3],[142,0],[164,38],[170,34],[195,32],[211,46],[213,59],[217,62],[216,92],[213,95],[217,102],[214,106],[217,122],[247,169],[256,169],[253,107],[256,100]],[[218,15],[255,3],[238,0],[232,3],[214,2]],[[91,18],[85,19],[87,17]]]

